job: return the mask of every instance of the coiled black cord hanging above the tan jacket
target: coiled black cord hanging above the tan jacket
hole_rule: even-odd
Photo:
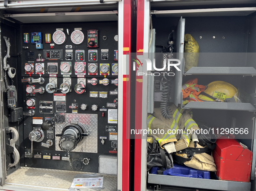
[[[163,76],[162,84],[162,97],[160,103],[161,114],[165,119],[171,119],[171,109],[168,107],[168,100],[172,88],[172,78],[170,76]]]

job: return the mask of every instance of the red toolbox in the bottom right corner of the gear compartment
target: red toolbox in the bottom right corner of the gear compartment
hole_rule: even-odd
[[[253,152],[235,139],[217,139],[213,152],[219,180],[250,182]]]

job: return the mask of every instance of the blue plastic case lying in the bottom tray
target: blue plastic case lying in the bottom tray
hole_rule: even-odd
[[[150,169],[150,173],[157,174],[158,170],[158,167],[153,167]],[[166,169],[165,171],[163,171],[163,175],[210,179],[209,171],[197,170],[179,164],[174,164],[172,169]]]

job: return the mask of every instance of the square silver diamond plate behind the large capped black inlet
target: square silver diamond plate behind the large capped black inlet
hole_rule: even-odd
[[[77,147],[71,152],[81,152],[81,153],[97,153],[97,134],[98,134],[98,116],[97,114],[78,114],[78,113],[66,113],[65,114],[65,124],[70,121],[78,121],[87,130],[88,136],[78,143]],[[58,146],[59,138],[56,134],[61,134],[62,129],[65,126],[63,123],[55,124],[55,150],[61,151]]]

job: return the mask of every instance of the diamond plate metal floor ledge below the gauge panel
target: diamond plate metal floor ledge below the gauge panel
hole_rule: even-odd
[[[7,184],[29,185],[38,188],[68,189],[77,174],[96,174],[91,172],[75,172],[67,170],[38,169],[21,167],[7,176]],[[100,175],[97,173],[97,175]],[[104,191],[117,191],[117,176],[103,175]]]

